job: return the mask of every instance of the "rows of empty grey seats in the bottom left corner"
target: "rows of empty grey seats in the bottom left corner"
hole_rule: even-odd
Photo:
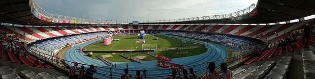
[[[2,62],[0,62],[2,63]],[[11,62],[3,62],[0,66],[1,79],[67,79],[56,70],[26,66]]]

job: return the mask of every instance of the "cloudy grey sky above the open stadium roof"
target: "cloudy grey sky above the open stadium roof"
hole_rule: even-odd
[[[227,14],[257,0],[35,0],[47,12],[93,20],[164,20]]]

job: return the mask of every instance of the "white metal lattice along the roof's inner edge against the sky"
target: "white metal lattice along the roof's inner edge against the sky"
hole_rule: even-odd
[[[31,3],[30,3],[31,4]],[[243,15],[247,15],[256,7],[255,4],[251,6],[239,10],[237,12],[229,13],[229,14],[221,14],[221,15],[211,15],[211,16],[200,16],[200,17],[191,17],[191,18],[183,18],[183,19],[169,19],[169,20],[89,20],[71,16],[64,16],[58,14],[52,14],[46,12],[43,8],[41,8],[34,0],[32,0],[31,7],[34,7],[33,12],[41,14],[50,19],[54,20],[67,20],[67,21],[76,21],[80,22],[80,24],[95,24],[95,25],[113,25],[113,24],[129,24],[131,21],[138,21],[139,23],[165,23],[165,22],[186,22],[186,21],[199,21],[199,20],[221,20],[221,19],[232,19],[236,17],[241,17]],[[36,16],[36,15],[35,15]],[[37,17],[37,16],[36,16]]]

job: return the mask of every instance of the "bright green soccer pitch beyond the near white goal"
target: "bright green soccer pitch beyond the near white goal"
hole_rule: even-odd
[[[155,40],[154,37],[158,37]],[[105,46],[103,40],[99,40],[84,48],[84,51],[127,51],[127,50],[142,50],[142,44],[136,43],[137,40],[145,40],[144,44],[157,44],[158,50],[165,50],[167,48],[176,47],[193,47],[200,46],[200,44],[182,43],[182,40],[175,39],[163,35],[145,35],[144,39],[139,39],[137,35],[115,35],[113,39],[120,39],[119,41],[113,41],[112,44]],[[145,47],[144,47],[145,48]]]

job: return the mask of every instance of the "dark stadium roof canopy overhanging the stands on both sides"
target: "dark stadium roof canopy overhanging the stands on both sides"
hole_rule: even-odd
[[[0,2],[0,22],[33,26],[63,25],[104,25],[104,24],[63,24],[43,21],[34,16],[32,0],[2,0]],[[315,0],[258,0],[256,8],[248,14],[215,20],[198,19],[184,21],[158,21],[140,24],[268,24],[300,19],[315,14]],[[36,7],[36,6],[35,6]],[[32,7],[33,8],[33,7]],[[40,8],[40,7],[39,7]],[[43,10],[42,10],[43,11]],[[42,13],[45,15],[45,13]],[[38,11],[37,11],[38,12]],[[48,16],[49,17],[49,16]],[[207,16],[204,16],[207,17]],[[204,18],[199,17],[199,18]],[[195,17],[196,18],[196,17]],[[198,18],[198,17],[197,17]],[[189,19],[189,18],[188,18]],[[130,22],[131,23],[131,22]]]

